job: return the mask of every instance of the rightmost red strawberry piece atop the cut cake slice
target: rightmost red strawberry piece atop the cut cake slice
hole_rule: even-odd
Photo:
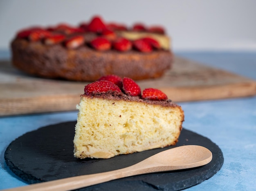
[[[146,100],[167,100],[167,96],[159,89],[147,88],[142,92],[142,98]]]

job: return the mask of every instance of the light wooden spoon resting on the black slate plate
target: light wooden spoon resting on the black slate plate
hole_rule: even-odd
[[[119,178],[132,175],[146,174],[161,171],[173,171],[180,169],[189,169],[200,167],[211,162],[212,153],[207,148],[198,145],[186,145],[175,147],[157,153],[145,160],[130,167],[96,173],[90,175],[81,175],[70,178],[63,178],[49,182],[31,184],[24,187],[7,189],[9,191],[66,191],[88,187],[102,182],[108,182]]]

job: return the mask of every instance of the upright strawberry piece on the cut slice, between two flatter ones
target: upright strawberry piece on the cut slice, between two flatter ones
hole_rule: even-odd
[[[130,78],[123,78],[123,90],[128,96],[140,96],[141,90],[139,85]]]

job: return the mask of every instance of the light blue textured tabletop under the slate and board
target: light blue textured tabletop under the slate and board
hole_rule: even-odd
[[[176,55],[256,80],[253,52],[177,52]],[[186,190],[255,190],[256,97],[180,105],[185,113],[184,127],[211,139],[224,155],[224,164],[216,175]],[[0,189],[26,185],[4,162],[4,151],[11,141],[48,124],[76,120],[76,115],[72,111],[0,118]]]

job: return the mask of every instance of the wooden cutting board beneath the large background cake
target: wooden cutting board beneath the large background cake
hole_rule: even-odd
[[[175,102],[256,95],[254,80],[179,57],[162,78],[137,82],[142,90],[158,88]],[[0,61],[0,116],[75,110],[86,84],[29,76]]]

